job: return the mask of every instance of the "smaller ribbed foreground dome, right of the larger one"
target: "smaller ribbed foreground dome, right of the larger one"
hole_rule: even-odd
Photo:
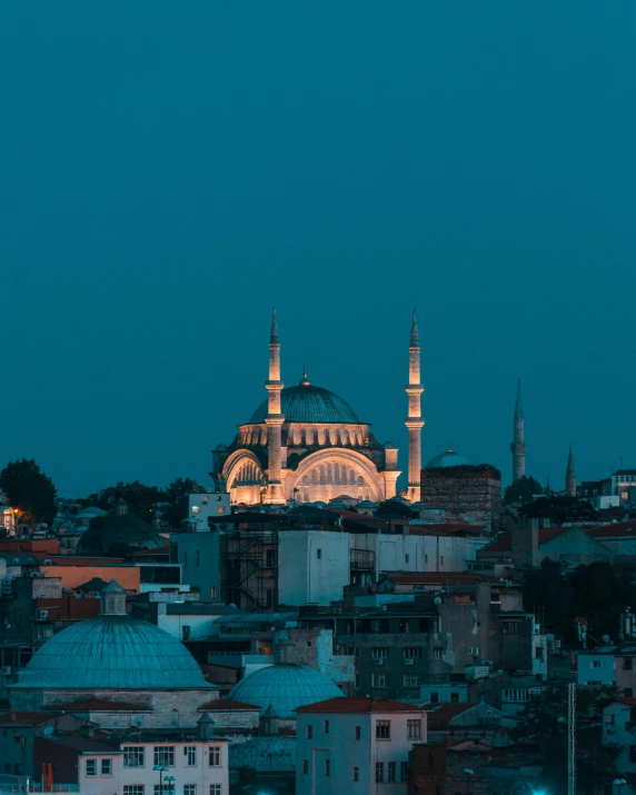
[[[228,698],[256,704],[261,714],[274,707],[278,717],[295,718],[298,707],[345,694],[328,676],[302,665],[270,665],[236,684]]]

